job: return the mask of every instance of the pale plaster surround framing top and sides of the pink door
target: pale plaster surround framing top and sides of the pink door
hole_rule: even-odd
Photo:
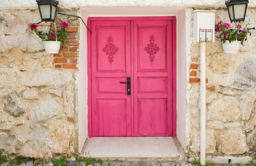
[[[188,123],[186,86],[188,82],[188,51],[191,39],[186,31],[186,9],[177,7],[84,7],[81,16],[85,22],[88,17],[143,17],[143,16],[176,16],[177,19],[177,138],[186,150],[188,145]],[[190,24],[190,23],[189,23]],[[78,64],[78,102],[79,102],[79,151],[82,151],[88,137],[88,77],[87,77],[87,31],[80,24],[80,60]]]

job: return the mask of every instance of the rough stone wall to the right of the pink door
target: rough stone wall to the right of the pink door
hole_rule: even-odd
[[[256,10],[249,9],[246,21],[256,26]],[[227,10],[217,10],[216,24],[229,22]],[[242,25],[245,26],[246,23]],[[232,24],[235,26],[235,24]],[[191,27],[192,28],[192,27]],[[206,44],[206,153],[224,160],[230,156],[255,156],[256,149],[256,32],[241,46],[239,53],[223,53],[219,35]],[[200,44],[190,52],[190,158],[200,151]],[[247,158],[248,159],[248,158]],[[250,159],[250,158],[249,158]]]

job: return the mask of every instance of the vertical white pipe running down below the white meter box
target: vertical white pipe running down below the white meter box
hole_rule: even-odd
[[[205,42],[200,43],[200,163],[205,165]]]

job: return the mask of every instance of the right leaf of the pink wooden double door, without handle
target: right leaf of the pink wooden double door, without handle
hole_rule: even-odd
[[[172,21],[134,21],[134,136],[172,136]]]

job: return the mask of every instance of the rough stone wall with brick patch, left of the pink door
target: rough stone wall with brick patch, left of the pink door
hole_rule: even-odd
[[[77,10],[64,12],[77,15]],[[69,26],[62,57],[62,52],[47,54],[41,39],[30,30],[29,24],[38,19],[38,10],[0,11],[0,151],[51,158],[78,148],[78,43],[73,42],[79,41],[80,22],[57,18],[57,23],[67,21]],[[39,24],[39,28],[45,26]]]

